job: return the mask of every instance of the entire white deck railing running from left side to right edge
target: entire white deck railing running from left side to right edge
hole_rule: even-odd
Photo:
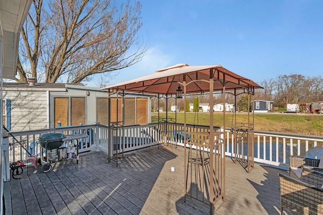
[[[214,130],[218,129],[220,128],[214,127]],[[208,132],[208,130],[208,126],[197,125],[187,125],[185,128],[186,135],[189,135],[190,132]],[[28,154],[22,149],[22,146],[31,154],[39,156],[42,153],[42,148],[39,146],[38,141],[39,136],[47,132],[88,134],[87,138],[79,140],[79,153],[86,151],[104,151],[105,153],[109,153],[109,146],[110,151],[115,149],[117,153],[125,153],[158,144],[184,146],[184,125],[178,123],[162,122],[149,125],[119,126],[115,128],[100,124],[70,126],[55,129],[12,132],[15,138],[9,136],[10,162],[27,159]],[[108,138],[109,132],[111,132],[110,145]],[[240,155],[247,156],[246,136],[242,135],[242,138],[239,139],[239,146],[235,146],[236,141],[234,140],[232,130],[226,129],[225,135],[226,156],[235,157],[238,149]],[[68,144],[65,143],[65,147]],[[254,132],[254,161],[258,163],[274,165],[285,169],[288,167],[289,155],[320,158],[322,151],[323,136],[264,131]]]

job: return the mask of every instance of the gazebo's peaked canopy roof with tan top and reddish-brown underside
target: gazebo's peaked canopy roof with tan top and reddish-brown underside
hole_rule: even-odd
[[[262,88],[250,79],[239,76],[232,71],[222,67],[221,65],[200,65],[190,66],[188,64],[176,64],[167,68],[159,69],[156,73],[133,79],[120,84],[102,88],[103,90],[172,95],[176,94],[179,83],[186,81],[186,93],[206,93],[209,92],[210,77],[213,77],[213,91],[219,92],[223,90],[242,90]],[[203,81],[205,80],[205,81]],[[181,86],[182,87],[182,86]],[[183,89],[183,87],[182,87]]]

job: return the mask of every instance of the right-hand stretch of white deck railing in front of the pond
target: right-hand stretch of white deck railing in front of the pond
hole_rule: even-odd
[[[223,128],[214,127],[214,131]],[[208,132],[209,126],[187,125],[186,135],[190,132]],[[236,153],[247,159],[247,134],[237,135],[234,138],[232,129],[225,129],[226,156],[235,157]],[[184,125],[168,123],[168,144],[183,146]],[[236,150],[236,151],[235,151]],[[254,131],[254,162],[273,165],[278,168],[288,169],[288,156],[296,155],[302,157],[320,159],[323,152],[323,136],[302,135],[283,132]]]

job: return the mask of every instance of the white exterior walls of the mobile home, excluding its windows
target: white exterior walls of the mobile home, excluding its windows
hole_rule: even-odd
[[[46,85],[46,86],[45,86]],[[36,130],[57,127],[54,122],[54,98],[84,97],[85,124],[95,124],[97,98],[108,98],[107,92],[98,88],[68,84],[5,83],[4,99],[11,101],[11,131]],[[7,86],[7,87],[6,87]],[[17,87],[18,86],[18,87]],[[112,95],[116,97],[116,95]],[[131,98],[147,98],[148,123],[150,123],[150,99],[148,95],[126,95]],[[119,98],[122,98],[121,96]],[[121,105],[121,104],[120,104]],[[106,107],[107,108],[107,107]],[[70,116],[69,116],[70,117]]]

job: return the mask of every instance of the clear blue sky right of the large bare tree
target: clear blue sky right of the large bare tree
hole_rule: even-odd
[[[323,74],[321,0],[140,2],[139,34],[148,50],[109,85],[177,63],[221,64],[258,84],[280,75]]]

